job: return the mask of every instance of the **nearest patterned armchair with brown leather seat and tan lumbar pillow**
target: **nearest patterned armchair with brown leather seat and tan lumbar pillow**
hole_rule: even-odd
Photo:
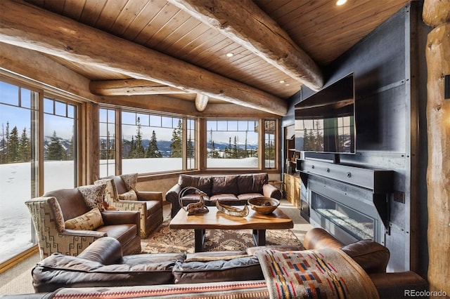
[[[120,241],[124,255],[141,253],[139,213],[104,211],[104,190],[95,185],[61,189],[25,202],[41,259],[52,253],[76,256],[105,236]]]

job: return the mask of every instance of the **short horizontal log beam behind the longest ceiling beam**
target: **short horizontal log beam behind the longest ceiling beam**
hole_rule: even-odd
[[[169,95],[173,93],[187,93],[172,86],[141,79],[91,81],[89,89],[95,95]]]

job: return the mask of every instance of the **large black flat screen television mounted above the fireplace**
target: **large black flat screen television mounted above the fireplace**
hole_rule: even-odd
[[[295,150],[355,154],[353,73],[295,105]]]

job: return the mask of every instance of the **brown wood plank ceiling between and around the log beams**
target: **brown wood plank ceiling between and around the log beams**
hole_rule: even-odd
[[[221,1],[219,0],[26,0],[26,2],[83,25],[113,34],[130,43],[164,53],[176,60],[205,69],[207,72],[256,88],[262,93],[285,102],[291,95],[297,93],[305,82],[299,81],[292,73],[285,72],[282,67],[276,66],[276,63],[285,59],[284,57],[273,58],[266,55],[269,56],[267,59],[264,53],[257,55],[255,48],[252,48],[252,46],[261,48],[257,45],[259,40],[254,40],[252,36],[252,31],[255,32],[257,28],[248,30],[249,28],[245,27],[249,24],[248,22],[236,20],[237,16],[245,10],[243,8],[249,8],[250,11],[250,7],[255,6],[264,12],[266,17],[268,16],[266,20],[274,22],[275,26],[278,25],[281,34],[287,34],[287,38],[293,41],[291,46],[304,51],[306,57],[311,58],[313,64],[315,62],[320,72],[321,67],[338,58],[409,1],[348,0],[345,5],[336,6],[335,1],[331,0],[243,0],[238,1],[240,7],[236,11],[229,9],[231,17],[228,18],[236,17],[233,20],[221,20],[220,18],[225,18],[224,14],[215,16],[219,18],[218,21],[216,20],[219,24],[216,28],[211,25],[211,22],[205,22],[204,18],[200,18],[192,9],[186,7],[203,6],[209,9],[211,15],[207,17],[211,19],[214,18],[213,13],[220,13]],[[269,27],[267,23],[265,22],[264,26]],[[230,29],[227,25],[234,27]],[[234,36],[243,35],[240,36],[240,42],[233,39],[230,32]],[[227,53],[233,53],[233,56],[227,57]],[[117,55],[120,55],[120,51],[117,51]],[[52,55],[51,52],[49,57],[93,81],[91,88],[93,93],[101,93],[102,91],[98,88],[104,88],[105,85],[102,84],[105,82],[108,86],[112,84],[110,80],[126,79],[115,81],[116,86],[111,87],[107,92],[110,92],[111,96],[114,96],[113,94],[159,93],[181,100],[194,101],[198,98],[197,93],[189,92],[188,88],[164,86],[160,82],[145,84],[144,81],[143,84],[139,82],[142,80],[131,83],[131,79],[142,78],[130,76],[126,72],[98,67],[95,64],[81,64]],[[145,61],[146,57],[139,59]],[[151,61],[147,62],[151,63]],[[207,94],[211,95],[211,93]],[[209,102],[224,102],[224,98],[220,96],[213,95],[209,98]],[[228,101],[227,98],[225,100]],[[237,99],[234,103],[245,104],[245,99],[240,100]],[[203,104],[205,104],[205,98],[203,98]],[[263,102],[262,105],[265,103]],[[250,107],[264,110],[256,104]],[[285,111],[281,108],[268,109],[266,112],[283,115]]]

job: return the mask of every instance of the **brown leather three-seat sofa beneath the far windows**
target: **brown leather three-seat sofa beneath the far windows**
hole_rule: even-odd
[[[178,182],[166,192],[166,201],[172,204],[172,218],[181,209],[179,194],[185,187],[195,187],[204,192],[201,194],[205,206],[221,204],[240,206],[247,204],[248,199],[255,197],[272,197],[281,199],[281,191],[269,184],[267,173],[248,173],[240,175],[179,175]],[[200,194],[186,192],[181,201],[183,206],[198,202]]]

